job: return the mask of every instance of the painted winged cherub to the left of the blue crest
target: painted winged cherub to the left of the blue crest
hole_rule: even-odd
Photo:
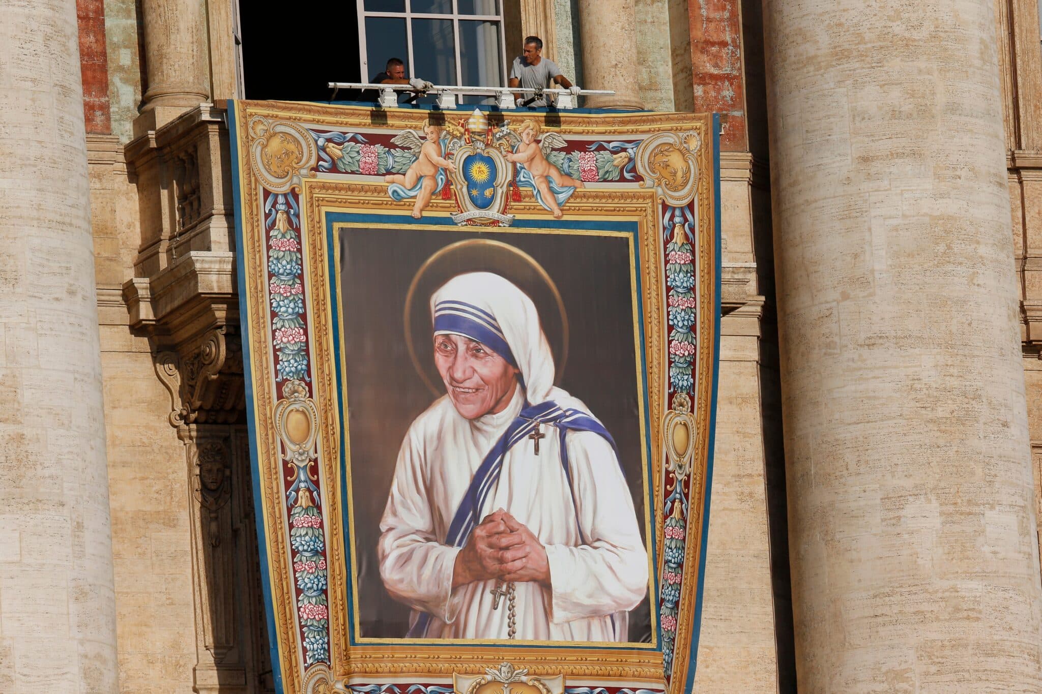
[[[423,122],[423,137],[416,130],[404,130],[392,138],[392,143],[413,151],[416,161],[404,174],[389,174],[383,180],[390,183],[388,195],[394,200],[416,198],[413,205],[413,216],[419,220],[423,210],[430,204],[430,198],[445,185],[445,170],[452,168],[448,157],[453,145],[458,145],[458,137],[446,134],[445,126],[431,123],[430,119]]]

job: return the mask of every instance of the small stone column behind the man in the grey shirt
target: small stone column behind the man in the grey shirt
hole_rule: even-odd
[[[582,80],[586,89],[615,96],[586,97],[588,108],[644,108],[637,65],[634,0],[579,0]]]

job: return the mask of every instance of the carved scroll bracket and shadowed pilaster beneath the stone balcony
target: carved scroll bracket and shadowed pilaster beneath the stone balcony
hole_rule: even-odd
[[[262,691],[255,673],[263,671],[263,661],[251,647],[263,620],[252,609],[259,603],[250,571],[257,560],[242,346],[234,327],[215,328],[183,349],[157,353],[155,371],[170,391],[170,423],[184,443],[188,464],[195,691]]]

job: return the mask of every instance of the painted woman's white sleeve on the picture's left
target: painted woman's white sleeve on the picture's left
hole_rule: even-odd
[[[460,549],[438,541],[423,467],[422,448],[410,429],[380,520],[380,577],[395,599],[451,622],[458,610],[450,608],[449,597]]]

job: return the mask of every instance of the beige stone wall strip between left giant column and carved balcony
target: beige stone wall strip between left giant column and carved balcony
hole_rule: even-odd
[[[131,334],[122,298],[141,242],[137,191],[116,137],[89,144],[119,691],[188,692],[196,652],[184,452],[148,339]]]

